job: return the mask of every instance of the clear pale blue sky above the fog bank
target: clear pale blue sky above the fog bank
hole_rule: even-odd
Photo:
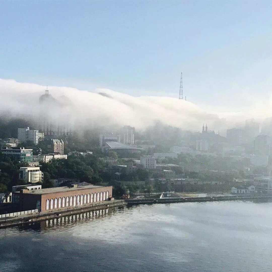
[[[237,108],[270,96],[271,1],[1,1],[0,78]],[[237,98],[237,99],[234,99]]]

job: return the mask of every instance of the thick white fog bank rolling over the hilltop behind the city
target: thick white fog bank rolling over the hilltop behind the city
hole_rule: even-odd
[[[49,93],[59,106],[45,108],[39,104],[39,97],[46,86],[20,83],[0,79],[0,110],[8,117],[38,117],[41,107],[52,118],[60,117],[72,125],[91,127],[134,126],[138,130],[157,122],[179,127],[184,130],[199,131],[207,123],[209,129],[217,132],[242,124],[246,118],[254,118],[249,112],[206,112],[205,109],[185,100],[161,96],[131,96],[109,89],[78,90],[70,87],[48,86]],[[177,91],[178,96],[178,91]],[[225,105],[224,105],[225,106]],[[211,109],[211,106],[208,108]],[[251,113],[250,113],[251,112]],[[262,111],[263,112],[263,111]],[[269,113],[265,112],[265,116]],[[260,116],[257,116],[260,118]]]

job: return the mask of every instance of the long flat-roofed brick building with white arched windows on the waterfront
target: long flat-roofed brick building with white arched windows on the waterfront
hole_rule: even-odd
[[[107,201],[112,197],[112,186],[81,186],[56,187],[29,191],[27,189],[13,193],[13,203],[20,210],[39,209],[46,210],[67,209]]]

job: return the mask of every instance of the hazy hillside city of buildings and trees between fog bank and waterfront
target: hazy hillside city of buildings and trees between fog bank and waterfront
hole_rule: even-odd
[[[97,201],[100,193],[100,200],[106,200],[272,191],[270,119],[262,126],[246,120],[244,126],[228,129],[226,137],[206,123],[199,132],[160,123],[139,132],[129,124],[73,129],[47,114],[50,107],[52,111],[67,103],[46,90],[36,120],[1,120],[0,209],[23,209],[21,189],[110,187],[112,195],[101,191]],[[94,195],[85,198],[88,203]]]

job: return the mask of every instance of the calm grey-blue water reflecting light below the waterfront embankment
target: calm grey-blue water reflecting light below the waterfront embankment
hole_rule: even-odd
[[[8,228],[0,271],[271,271],[271,211],[243,201],[154,204]]]

